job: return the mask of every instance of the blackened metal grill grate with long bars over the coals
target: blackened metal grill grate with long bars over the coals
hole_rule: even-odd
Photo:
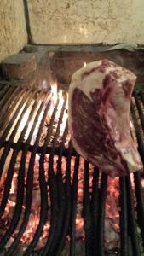
[[[28,98],[27,98],[28,96]],[[22,97],[22,98],[21,98]],[[139,113],[141,119],[141,126],[144,127],[144,115],[141,108],[141,103],[144,105],[144,96],[140,93],[137,95],[134,92],[135,97],[135,106]],[[49,209],[48,203],[48,195],[47,195],[47,186],[48,183],[45,180],[44,176],[44,155],[49,154],[49,189],[50,189],[50,198],[51,198],[51,225],[49,231],[49,239],[43,247],[43,252],[39,252],[41,255],[60,255],[62,252],[62,248],[65,244],[66,235],[69,234],[71,236],[71,244],[70,244],[70,255],[75,255],[75,241],[76,241],[76,208],[77,208],[77,199],[78,199],[78,166],[79,166],[79,155],[72,148],[72,143],[69,143],[68,148],[65,148],[66,137],[68,133],[68,126],[66,124],[65,131],[60,141],[60,145],[57,147],[57,138],[60,134],[60,124],[62,122],[63,113],[66,111],[66,97],[64,104],[61,108],[60,118],[58,121],[58,125],[55,132],[55,137],[53,140],[52,146],[48,146],[49,138],[52,132],[52,127],[55,119],[55,113],[57,110],[57,106],[59,103],[59,99],[55,105],[51,121],[49,123],[48,133],[45,138],[45,143],[42,147],[39,147],[38,141],[41,136],[41,131],[43,129],[44,119],[46,118],[47,112],[49,110],[49,95],[44,91],[37,92],[37,90],[32,89],[24,89],[20,88],[17,85],[12,87],[10,84],[3,87],[0,85],[0,106],[2,108],[2,116],[3,119],[6,111],[7,116],[10,116],[10,109],[14,108],[15,102],[20,101],[20,108],[23,106],[24,102],[27,101],[26,107],[20,115],[20,119],[18,119],[18,123],[15,126],[14,131],[12,132],[9,140],[6,141],[7,133],[9,132],[10,127],[12,126],[14,119],[16,118],[20,108],[18,107],[15,110],[13,118],[9,120],[9,124],[3,123],[4,132],[0,137],[0,148],[4,147],[4,153],[0,159],[0,175],[3,172],[3,166],[6,160],[7,155],[9,154],[9,150],[13,149],[13,155],[9,166],[8,176],[6,179],[5,192],[3,196],[3,201],[0,206],[0,217],[2,217],[6,203],[9,197],[9,189],[12,181],[12,177],[14,174],[14,165],[16,162],[16,156],[22,150],[21,163],[20,163],[20,174],[18,177],[18,193],[17,193],[17,204],[16,204],[16,213],[14,213],[14,219],[10,224],[10,229],[6,231],[3,239],[0,241],[0,252],[3,251],[3,247],[6,245],[7,241],[9,241],[10,236],[13,234],[15,227],[20,220],[20,212],[23,204],[23,195],[24,195],[24,177],[25,177],[25,162],[26,162],[26,154],[28,151],[31,152],[30,165],[27,174],[27,182],[26,182],[26,215],[21,225],[20,232],[17,235],[17,238],[14,240],[14,243],[9,247],[8,251],[5,255],[13,255],[15,247],[18,245],[20,241],[20,237],[22,236],[23,231],[26,229],[26,224],[28,222],[28,218],[31,213],[31,204],[32,204],[32,181],[33,181],[33,172],[34,172],[34,161],[37,153],[41,154],[40,156],[40,167],[39,167],[39,184],[41,190],[41,218],[40,223],[37,227],[37,232],[30,244],[24,253],[25,256],[31,255],[34,250],[34,247],[37,244],[37,241],[42,234],[43,224],[47,220],[47,212]],[[24,143],[24,136],[26,133],[28,122],[26,123],[23,131],[20,134],[20,138],[17,143],[14,143],[15,132],[19,128],[21,119],[26,109],[29,108],[29,104],[32,99],[36,99],[36,101],[32,105],[32,112],[29,116],[29,121],[32,119],[32,114],[36,110],[37,102],[39,99],[43,98],[41,102],[40,108],[37,110],[37,114],[35,116],[34,125],[32,125],[32,130],[30,132],[29,137]],[[48,102],[47,102],[48,101]],[[9,107],[9,102],[11,102],[11,108]],[[46,108],[43,113],[42,123],[38,129],[37,138],[34,145],[30,145],[32,134],[34,128],[37,124],[37,118],[41,113],[43,106],[46,102]],[[131,103],[131,115],[133,119],[133,123],[135,126],[135,134],[138,142],[138,149],[141,154],[141,160],[144,163],[144,142],[141,137],[141,129],[138,125],[135,107],[134,104]],[[54,172],[54,156],[58,155],[58,164],[57,164],[57,175],[55,176]],[[66,183],[63,182],[62,173],[61,173],[61,159],[62,157],[66,157]],[[71,158],[75,156],[75,166],[74,166],[74,175],[71,183]],[[22,170],[22,171],[21,171]],[[101,187],[99,187],[99,177],[100,173],[95,169],[93,173],[93,191],[92,195],[89,195],[89,163],[84,163],[84,230],[85,230],[85,255],[93,256],[93,255],[105,255],[104,251],[104,218],[105,218],[105,203],[107,196],[107,175],[102,174],[101,177]],[[135,180],[135,194],[137,200],[137,213],[138,213],[138,223],[141,227],[141,237],[144,243],[144,199],[143,192],[141,187],[141,174],[140,172],[135,172],[134,174]],[[129,255],[129,247],[128,240],[132,245],[132,250],[134,255],[141,255],[140,248],[137,241],[137,230],[136,230],[136,219],[135,219],[135,211],[134,205],[132,203],[132,190],[131,190],[131,182],[130,176],[128,177],[120,177],[119,178],[119,186],[120,186],[120,197],[119,204],[121,207],[120,211],[120,255],[127,256]],[[6,196],[7,195],[7,196]],[[96,203],[97,202],[97,203]],[[95,218],[94,218],[95,217]],[[50,254],[49,254],[50,253]],[[39,255],[39,254],[38,254]]]

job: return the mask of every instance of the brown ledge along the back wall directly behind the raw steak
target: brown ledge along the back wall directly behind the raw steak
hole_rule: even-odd
[[[31,45],[24,48],[26,52],[49,52],[49,67],[52,77],[56,78],[61,88],[67,88],[72,74],[91,62],[107,58],[137,76],[137,84],[144,84],[144,46],[134,44],[78,44],[78,45]]]

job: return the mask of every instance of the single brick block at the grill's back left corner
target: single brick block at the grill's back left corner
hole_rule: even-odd
[[[3,79],[12,83],[34,88],[49,90],[51,72],[49,53],[20,53],[11,55],[1,64]]]

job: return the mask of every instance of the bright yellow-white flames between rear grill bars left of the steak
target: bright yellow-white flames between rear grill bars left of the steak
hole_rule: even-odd
[[[48,111],[48,114],[47,114],[47,117],[45,119],[45,124],[49,125],[49,122],[50,122],[50,119],[51,119],[51,116],[54,112],[54,108],[55,108],[55,105],[56,105],[56,102],[59,100],[59,104],[57,106],[57,111],[55,113],[55,122],[54,122],[54,127],[53,127],[53,136],[55,135],[55,131],[56,131],[56,128],[57,128],[57,125],[58,125],[58,121],[60,119],[60,113],[61,113],[61,109],[63,107],[63,104],[65,102],[65,99],[66,99],[66,107],[65,107],[65,111],[64,111],[64,114],[63,114],[63,119],[62,119],[62,123],[60,124],[60,135],[59,137],[61,138],[62,135],[63,135],[63,132],[65,130],[65,127],[66,127],[66,122],[67,122],[67,118],[68,118],[68,114],[67,114],[67,108],[68,108],[68,94],[65,94],[63,93],[62,90],[58,90],[58,85],[57,85],[57,82],[53,82],[51,83],[51,92],[52,92],[52,96],[51,96],[51,104],[50,104],[50,107],[49,107],[49,111]],[[31,113],[31,110],[32,110],[32,106],[34,104],[34,100],[32,100],[29,108],[26,110],[26,113],[24,113],[23,115],[23,118],[21,119],[21,122],[20,122],[20,126],[17,130],[17,133],[14,137],[14,143],[16,143],[21,135],[21,132],[23,131],[27,121],[28,121],[28,118],[30,116],[30,113]],[[36,116],[36,113],[37,113],[37,110],[38,108],[40,107],[42,103],[42,99],[40,98],[39,101],[37,102],[37,108],[35,110],[35,113],[33,113],[32,115],[32,119],[31,121],[27,124],[27,129],[26,129],[26,134],[25,134],[25,137],[24,137],[24,141],[26,141],[26,139],[28,138],[29,134],[30,134],[30,131],[32,129],[32,125],[33,125],[33,121],[34,121],[34,118]],[[20,114],[22,113],[22,111],[24,110],[25,108],[25,104],[24,106],[22,106],[22,108],[20,109],[20,113],[19,113],[19,117],[20,118]],[[36,137],[37,137],[37,132],[38,132],[38,129],[39,129],[39,125],[41,124],[41,120],[43,118],[43,113],[44,113],[44,110],[46,108],[46,105],[43,106],[43,109],[37,119],[37,124],[36,124],[36,127],[35,127],[35,130],[33,131],[33,134],[32,134],[32,140],[31,140],[31,145],[34,145],[35,141],[36,141]],[[17,119],[18,119],[17,118]],[[16,124],[17,122],[17,119],[15,120],[14,122],[14,125]],[[14,126],[13,125],[13,126]],[[47,125],[45,125],[43,127],[43,134],[42,134],[42,138],[40,140],[40,146],[43,146],[43,143],[44,143],[44,138],[46,136],[46,133],[47,133]],[[9,135],[11,134],[11,132],[13,131],[14,127],[12,127],[11,131],[9,132]],[[8,138],[9,139],[9,138]],[[68,140],[69,141],[69,140]],[[67,141],[67,142],[68,142]]]

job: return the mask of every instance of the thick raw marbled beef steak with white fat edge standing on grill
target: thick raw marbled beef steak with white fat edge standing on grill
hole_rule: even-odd
[[[112,61],[91,62],[72,76],[69,130],[78,154],[111,177],[141,170],[130,135],[135,74]]]

